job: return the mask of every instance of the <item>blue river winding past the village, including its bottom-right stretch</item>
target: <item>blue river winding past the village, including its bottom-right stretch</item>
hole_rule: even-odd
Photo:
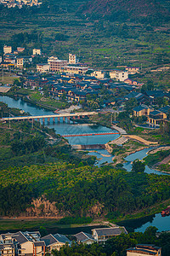
[[[21,99],[13,99],[8,96],[0,96],[0,101],[5,102],[8,104],[9,108],[20,108],[24,110],[26,113],[31,113],[31,115],[43,115],[43,114],[52,114],[53,112],[48,111],[44,108],[38,108],[37,106],[32,105],[31,103],[23,102]],[[54,114],[54,113],[53,113]],[[57,115],[56,115],[57,116]],[[48,123],[46,123],[48,125]],[[111,129],[101,126],[101,125],[90,125],[90,124],[73,124],[72,122],[66,123],[66,122],[57,122],[55,124],[49,124],[49,128],[54,128],[56,133],[59,133],[61,135],[64,134],[80,134],[80,133],[91,133],[91,132],[110,132]],[[116,139],[119,137],[118,134],[113,135],[99,135],[99,136],[85,136],[85,137],[67,137],[69,143],[71,145],[74,144],[95,144],[96,142],[99,144],[108,143],[111,140]],[[131,171],[132,164],[131,162],[135,159],[142,160],[146,155],[147,152],[150,150],[150,148],[145,148],[139,152],[136,152],[134,154],[130,154],[127,156],[125,160],[127,162],[123,165],[123,167],[127,170],[127,172]],[[89,152],[91,155],[97,156],[99,159],[96,163],[97,166],[105,163],[107,161],[108,163],[112,162],[112,155],[107,153],[105,149],[100,150],[93,150],[93,152]],[[146,166],[145,172],[147,173],[155,173],[158,175],[165,175],[164,173],[158,172],[156,170],[150,169],[148,166]],[[161,217],[161,214],[158,213],[156,215],[152,215],[145,218],[139,218],[135,220],[129,220],[126,222],[120,223],[122,225],[125,225],[127,230],[134,230],[134,231],[144,231],[147,226],[154,225],[158,228],[159,231],[162,230],[170,230],[170,216],[167,217]]]

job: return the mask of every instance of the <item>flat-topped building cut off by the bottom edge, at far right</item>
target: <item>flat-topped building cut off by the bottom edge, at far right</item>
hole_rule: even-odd
[[[153,244],[137,244],[127,249],[127,256],[161,256],[161,247]]]

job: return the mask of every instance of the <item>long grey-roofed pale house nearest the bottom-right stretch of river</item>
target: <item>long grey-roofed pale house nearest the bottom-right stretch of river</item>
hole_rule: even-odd
[[[125,229],[125,227],[102,228],[92,230],[92,236],[99,243],[105,243],[105,241],[107,241],[111,237],[119,236],[122,233],[127,234],[127,230]]]

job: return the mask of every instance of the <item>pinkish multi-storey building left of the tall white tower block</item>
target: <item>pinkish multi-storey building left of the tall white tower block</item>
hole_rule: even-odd
[[[49,70],[53,72],[61,72],[67,66],[67,61],[59,60],[57,57],[48,58]]]

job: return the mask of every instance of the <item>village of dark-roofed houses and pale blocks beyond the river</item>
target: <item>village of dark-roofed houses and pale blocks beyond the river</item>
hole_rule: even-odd
[[[87,63],[79,62],[77,55],[69,54],[68,61],[50,56],[46,58],[47,63],[36,64],[36,69],[32,69],[32,61],[41,56],[42,51],[32,49],[31,56],[20,56],[24,50],[18,47],[13,51],[11,46],[4,45],[0,65],[8,73],[12,70],[21,75],[24,79],[19,85],[25,89],[36,90],[43,96],[45,88],[46,96],[54,100],[65,100],[70,105],[83,105],[88,110],[114,108],[120,112],[126,102],[134,101],[133,116],[145,117],[145,127],[158,128],[169,122],[170,92],[155,90],[153,84],[147,85],[130,79],[129,76],[140,73],[139,67],[94,70]],[[7,92],[13,84],[2,85],[0,91]]]

